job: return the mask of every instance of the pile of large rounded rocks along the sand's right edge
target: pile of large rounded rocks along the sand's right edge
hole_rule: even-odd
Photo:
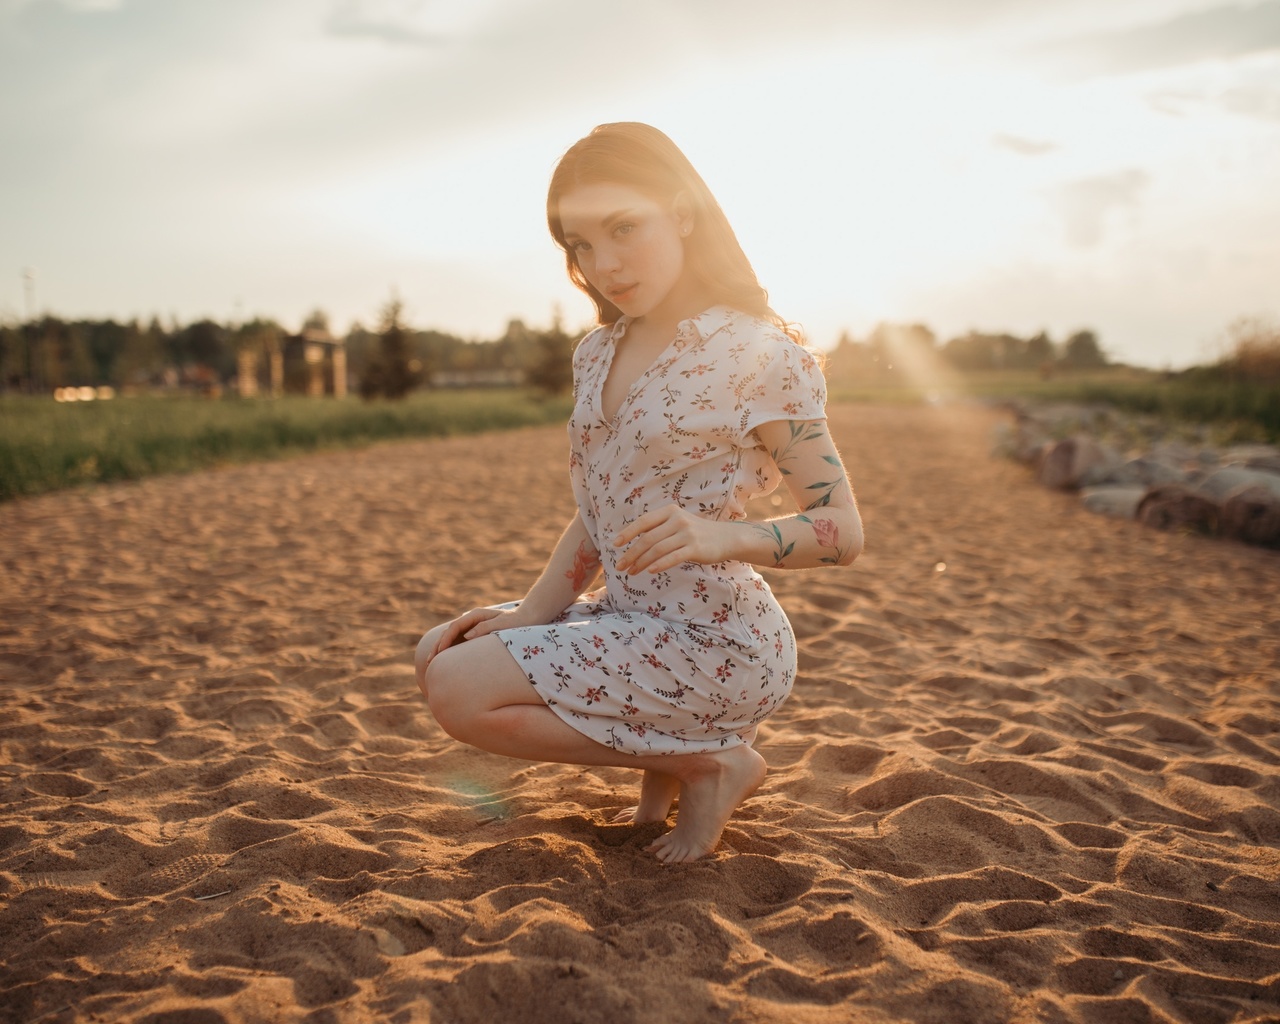
[[[997,451],[1084,507],[1160,530],[1280,548],[1280,448],[1219,447],[1204,428],[1170,436],[1155,420],[1108,407],[1014,407]]]

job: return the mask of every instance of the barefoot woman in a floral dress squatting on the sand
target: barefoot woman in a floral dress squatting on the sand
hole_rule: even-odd
[[[763,781],[755,728],[795,680],[751,564],[849,564],[861,522],[817,361],[669,138],[598,127],[557,165],[547,216],[600,323],[573,358],[579,513],[524,600],[422,637],[419,686],[483,750],[644,772],[620,819],[664,820],[678,799],[649,849],[694,860]],[[804,511],[746,520],[781,480]]]

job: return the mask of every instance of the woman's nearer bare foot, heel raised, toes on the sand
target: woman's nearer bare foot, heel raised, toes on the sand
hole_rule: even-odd
[[[680,786],[676,827],[645,849],[664,864],[709,854],[737,805],[759,788],[764,774],[764,758],[745,744],[709,754],[704,767],[686,776]]]

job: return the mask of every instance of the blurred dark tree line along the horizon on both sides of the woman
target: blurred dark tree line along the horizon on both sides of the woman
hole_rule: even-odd
[[[307,316],[297,333],[278,321],[255,319],[224,324],[128,320],[64,320],[46,315],[28,323],[0,324],[0,392],[47,393],[65,387],[111,387],[119,392],[233,389],[237,356],[287,349],[305,338],[340,340],[352,389],[366,398],[402,397],[421,387],[530,384],[563,392],[572,384],[572,351],[581,332],[568,333],[558,315],[549,328],[511,320],[498,338],[468,339],[404,323],[392,300],[372,328],[353,324],[334,338],[323,311]],[[1061,342],[1041,332],[1032,337],[969,332],[938,342],[923,324],[881,324],[865,338],[847,332],[827,358],[835,380],[909,379],[920,364],[956,370],[1088,370],[1107,365],[1097,334],[1079,330]],[[302,390],[302,371],[287,370],[287,390]]]

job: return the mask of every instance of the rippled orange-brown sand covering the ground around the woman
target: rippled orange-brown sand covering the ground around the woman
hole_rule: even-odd
[[[997,420],[833,408],[867,553],[769,573],[769,776],[672,868],[636,776],[413,687],[572,513],[559,429],[0,507],[0,1020],[1280,1019],[1280,553],[1091,516]]]

